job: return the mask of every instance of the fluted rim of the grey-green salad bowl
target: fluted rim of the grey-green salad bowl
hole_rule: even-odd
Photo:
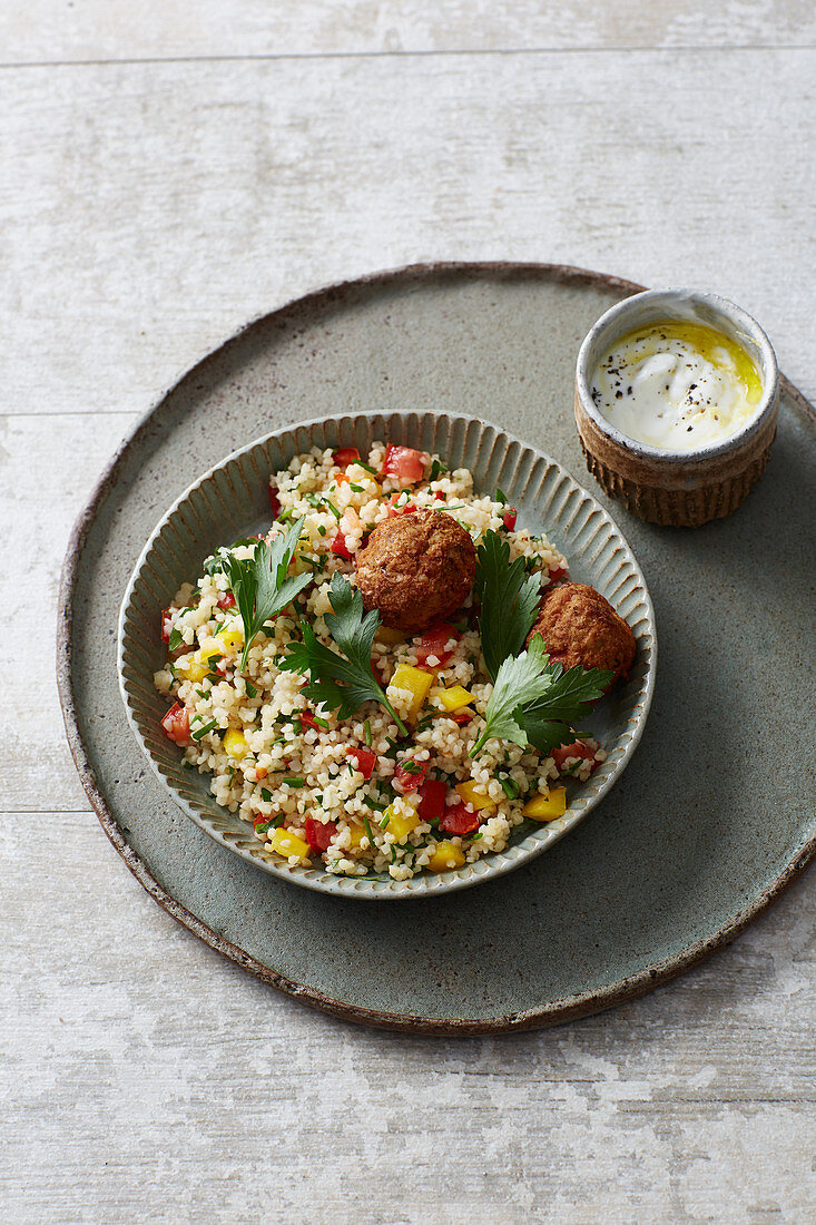
[[[515,445],[522,451],[522,453],[532,456],[534,463],[540,463],[543,461],[548,470],[554,470],[557,473],[559,480],[561,481],[566,480],[571,483],[571,485],[581,492],[582,497],[588,500],[592,507],[592,513],[599,512],[602,516],[602,521],[605,523],[606,528],[618,534],[621,545],[629,554],[630,565],[633,566],[633,570],[637,575],[640,599],[641,603],[646,606],[646,617],[648,622],[647,632],[651,638],[649,662],[648,662],[648,670],[643,677],[642,692],[640,695],[637,703],[638,704],[637,714],[630,717],[630,719],[633,719],[633,728],[627,726],[626,729],[626,734],[629,735],[629,741],[624,748],[624,753],[620,762],[618,763],[615,771],[610,774],[610,777],[606,778],[600,785],[600,788],[586,801],[582,811],[580,813],[575,813],[572,820],[567,824],[565,824],[562,828],[559,829],[548,827],[549,837],[545,840],[542,839],[538,846],[528,848],[522,855],[516,855],[512,856],[511,859],[502,859],[501,856],[504,856],[506,853],[497,851],[496,858],[499,859],[499,862],[495,864],[490,862],[493,856],[485,856],[484,860],[477,861],[485,864],[484,870],[480,872],[470,872],[467,876],[459,876],[461,870],[457,869],[453,871],[450,880],[447,878],[448,872],[434,873],[433,876],[429,876],[429,873],[421,873],[421,882],[419,887],[412,889],[407,888],[409,883],[408,881],[393,881],[393,882],[385,881],[382,882],[385,884],[385,888],[382,889],[376,889],[371,887],[359,888],[355,887],[355,882],[363,884],[363,882],[366,878],[333,877],[331,875],[327,878],[326,872],[323,872],[322,876],[320,877],[312,877],[308,875],[295,875],[295,872],[293,872],[288,867],[283,867],[282,865],[278,865],[272,860],[252,856],[251,853],[245,851],[243,848],[234,844],[233,840],[230,838],[227,838],[221,831],[212,828],[211,824],[207,821],[205,821],[203,816],[198,813],[194,809],[194,806],[176,791],[173,783],[168,778],[165,778],[163,772],[159,769],[158,762],[154,760],[152,752],[149,751],[149,747],[145,741],[141,729],[138,728],[138,724],[136,722],[134,710],[131,709],[131,703],[126,691],[125,675],[124,675],[124,665],[125,665],[124,654],[125,654],[125,637],[126,637],[125,626],[127,621],[129,609],[132,604],[138,581],[147,562],[148,555],[154,549],[157,539],[161,538],[165,527],[168,527],[168,524],[172,522],[173,516],[176,514],[179,508],[185,502],[189,501],[190,495],[195,490],[201,489],[207,481],[212,480],[216,473],[224,472],[229,464],[234,463],[235,461],[240,461],[243,457],[251,454],[256,448],[265,450],[266,447],[268,447],[270,442],[282,441],[290,437],[297,430],[304,430],[309,432],[315,426],[337,424],[339,432],[342,423],[348,421],[350,417],[353,417],[355,420],[364,419],[366,421],[371,421],[376,418],[385,418],[386,420],[388,420],[395,417],[407,418],[412,415],[415,415],[420,419],[445,418],[448,423],[451,423],[451,428],[455,428],[456,423],[459,421],[466,423],[466,426],[473,425],[473,426],[480,426],[483,429],[489,428],[493,431],[495,431],[496,441],[501,440],[501,445],[502,446],[506,445],[507,450]],[[385,413],[376,410],[354,413],[354,414],[350,414],[348,412],[332,413],[327,414],[326,417],[310,418],[309,420],[305,421],[297,421],[294,425],[282,426],[279,430],[272,430],[267,434],[262,434],[257,439],[254,439],[252,441],[245,443],[245,446],[235,448],[228,456],[223,457],[217,463],[212,464],[205,473],[202,473],[194,481],[191,481],[190,485],[187,485],[187,488],[183,490],[183,492],[175,499],[173,505],[164,512],[162,518],[157,522],[135,562],[134,570],[131,572],[130,579],[127,582],[125,593],[121,599],[121,604],[119,608],[119,619],[116,624],[116,671],[119,679],[119,693],[123,699],[123,704],[125,707],[127,724],[145,760],[147,761],[153,774],[162,784],[164,791],[169,795],[173,802],[181,810],[181,812],[184,812],[184,815],[190,821],[194,822],[194,824],[198,829],[201,829],[210,838],[212,838],[213,842],[218,843],[222,846],[225,846],[225,849],[229,850],[232,854],[238,855],[245,862],[250,862],[254,867],[259,869],[260,871],[265,871],[270,876],[274,876],[277,880],[285,881],[287,884],[293,884],[299,888],[308,888],[316,893],[325,893],[328,895],[349,898],[357,902],[409,902],[429,897],[442,897],[448,893],[457,893],[462,889],[474,888],[478,884],[486,884],[490,881],[495,881],[500,876],[506,876],[519,867],[524,867],[534,859],[538,859],[539,855],[550,850],[556,842],[560,842],[562,837],[571,833],[576,826],[581,824],[581,822],[584,821],[586,817],[588,817],[592,810],[597,807],[597,805],[600,804],[604,796],[609,794],[609,791],[613,789],[613,786],[619,780],[621,774],[629,767],[632,757],[635,756],[637,746],[643,736],[646,723],[649,715],[649,709],[652,707],[652,698],[654,696],[654,681],[657,673],[657,659],[658,659],[657,626],[654,617],[654,605],[652,603],[652,597],[649,594],[648,584],[646,582],[640,562],[637,561],[637,557],[635,556],[635,552],[629,540],[626,539],[626,537],[624,535],[624,533],[621,532],[620,527],[618,526],[613,516],[609,513],[609,511],[606,511],[605,507],[600,505],[600,502],[593,496],[593,494],[589,492],[589,490],[584,489],[584,486],[576,480],[576,478],[572,475],[571,472],[569,472],[569,469],[566,469],[551,456],[546,454],[546,452],[540,451],[538,447],[534,447],[528,442],[523,442],[521,439],[516,437],[516,435],[510,434],[507,430],[504,429],[504,426],[496,425],[494,421],[482,420],[479,418],[470,417],[466,413],[451,413],[448,410],[441,413],[433,413],[430,410],[424,410],[419,413],[413,409],[391,410]],[[616,737],[616,745],[618,740],[620,740],[620,736]],[[515,843],[512,845],[518,848],[519,844]],[[510,849],[510,846],[507,849]],[[371,884],[372,882],[368,883]]]

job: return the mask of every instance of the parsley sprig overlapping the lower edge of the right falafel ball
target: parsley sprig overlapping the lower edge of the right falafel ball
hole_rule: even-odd
[[[521,655],[507,658],[496,675],[484,731],[470,750],[475,757],[486,740],[533,745],[548,753],[571,736],[572,725],[584,718],[603,696],[613,674],[599,668],[551,664],[539,633]]]

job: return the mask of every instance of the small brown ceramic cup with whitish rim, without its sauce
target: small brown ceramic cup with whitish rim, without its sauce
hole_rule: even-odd
[[[667,318],[724,332],[747,352],[762,380],[762,398],[744,425],[693,451],[636,442],[605,420],[589,393],[595,365],[616,339]],[[778,414],[779,372],[771,342],[756,320],[717,294],[691,289],[635,294],[600,316],[578,352],[575,418],[587,467],[610,497],[649,523],[698,527],[736,510],[765,472]]]

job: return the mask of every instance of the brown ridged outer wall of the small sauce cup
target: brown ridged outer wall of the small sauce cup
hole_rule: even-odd
[[[777,432],[779,396],[761,429],[733,451],[706,459],[660,463],[638,456],[598,429],[576,387],[575,419],[587,468],[610,497],[646,519],[696,528],[731,514],[768,463]]]

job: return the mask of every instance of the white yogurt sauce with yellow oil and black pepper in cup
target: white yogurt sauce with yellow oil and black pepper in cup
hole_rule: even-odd
[[[751,417],[762,380],[730,337],[667,320],[615,341],[595,366],[591,394],[636,442],[693,451],[729,437]]]

